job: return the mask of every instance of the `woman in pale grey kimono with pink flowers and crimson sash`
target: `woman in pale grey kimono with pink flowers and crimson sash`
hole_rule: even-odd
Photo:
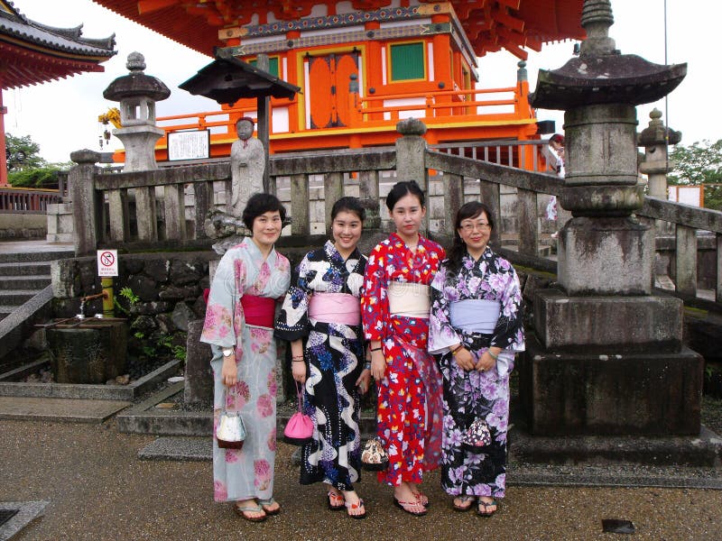
[[[291,281],[289,261],[275,252],[285,209],[268,194],[248,199],[243,221],[250,238],[229,249],[210,287],[201,342],[213,350],[213,481],[216,501],[235,502],[246,520],[260,522],[281,511],[273,500],[276,452],[277,301]],[[223,408],[239,411],[247,435],[241,449],[218,447],[215,431]]]

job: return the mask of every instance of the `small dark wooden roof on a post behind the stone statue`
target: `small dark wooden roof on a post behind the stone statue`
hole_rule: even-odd
[[[267,68],[267,63],[267,58],[259,55],[258,65],[264,67],[265,64]],[[241,98],[257,99],[257,136],[264,143],[264,191],[267,192],[270,188],[268,101],[270,97],[292,99],[301,88],[277,78],[260,67],[256,68],[248,62],[236,59],[228,50],[218,50],[216,60],[199,69],[196,75],[181,83],[179,87],[190,94],[209,97],[220,105],[233,105]]]

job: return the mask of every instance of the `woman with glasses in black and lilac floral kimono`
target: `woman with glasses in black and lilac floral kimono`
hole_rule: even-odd
[[[441,487],[458,511],[490,517],[504,498],[509,372],[524,349],[514,267],[487,245],[494,229],[477,201],[458,210],[454,244],[431,283],[429,351],[444,386]]]

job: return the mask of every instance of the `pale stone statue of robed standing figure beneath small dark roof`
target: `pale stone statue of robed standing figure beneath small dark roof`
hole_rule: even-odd
[[[231,146],[231,215],[240,217],[248,197],[264,191],[264,143],[253,137],[254,119],[236,122],[238,141]]]

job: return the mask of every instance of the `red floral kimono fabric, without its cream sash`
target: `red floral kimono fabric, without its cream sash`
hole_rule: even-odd
[[[361,297],[366,340],[381,341],[386,358],[378,381],[377,435],[389,454],[379,481],[399,486],[420,483],[422,472],[439,467],[441,452],[441,376],[427,352],[427,317],[391,316],[392,281],[429,285],[446,257],[437,243],[419,237],[412,252],[398,234],[376,245],[368,257]]]

